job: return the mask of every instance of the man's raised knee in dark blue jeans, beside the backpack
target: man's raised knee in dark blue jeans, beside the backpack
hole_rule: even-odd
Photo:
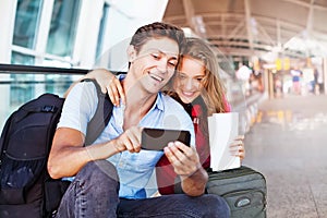
[[[114,166],[107,160],[90,161],[80,170],[64,194],[58,217],[66,217],[66,213],[89,213],[96,217],[97,211],[101,211],[101,215],[116,213],[118,192],[119,180]],[[78,214],[75,217],[81,216]]]

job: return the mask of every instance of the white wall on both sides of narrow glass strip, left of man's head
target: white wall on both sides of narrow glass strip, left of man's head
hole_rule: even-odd
[[[107,2],[107,26],[100,59],[95,62],[102,7]],[[126,66],[125,49],[137,27],[161,21],[168,0],[96,0],[82,1],[73,59],[81,68],[122,70]],[[149,10],[150,9],[150,10]],[[110,53],[114,52],[114,57]],[[118,58],[119,57],[119,58]],[[114,59],[116,58],[116,59]],[[109,59],[111,63],[109,64]]]

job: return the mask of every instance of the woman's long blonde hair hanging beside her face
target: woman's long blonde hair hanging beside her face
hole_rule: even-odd
[[[205,64],[205,76],[202,81],[203,88],[201,96],[207,107],[208,116],[226,112],[226,89],[219,76],[220,69],[217,57],[208,43],[199,38],[186,38],[186,45],[181,50],[181,59],[177,70],[181,69],[183,57],[191,57]],[[175,78],[173,77],[173,80]],[[172,84],[173,82],[169,84],[170,90],[172,90]],[[171,95],[172,92],[168,92],[168,94]]]

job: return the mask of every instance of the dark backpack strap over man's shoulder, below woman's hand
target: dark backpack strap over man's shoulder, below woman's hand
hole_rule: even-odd
[[[112,114],[113,105],[107,94],[101,92],[99,84],[95,80],[85,78],[82,82],[93,82],[97,89],[98,106],[94,117],[87,124],[85,146],[90,145],[98,138],[105,130]]]

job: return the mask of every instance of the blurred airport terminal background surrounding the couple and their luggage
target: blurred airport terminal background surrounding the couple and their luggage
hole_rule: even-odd
[[[242,164],[266,177],[267,217],[327,217],[325,0],[1,0],[0,130],[92,69],[125,72],[131,36],[156,21],[217,55]]]

